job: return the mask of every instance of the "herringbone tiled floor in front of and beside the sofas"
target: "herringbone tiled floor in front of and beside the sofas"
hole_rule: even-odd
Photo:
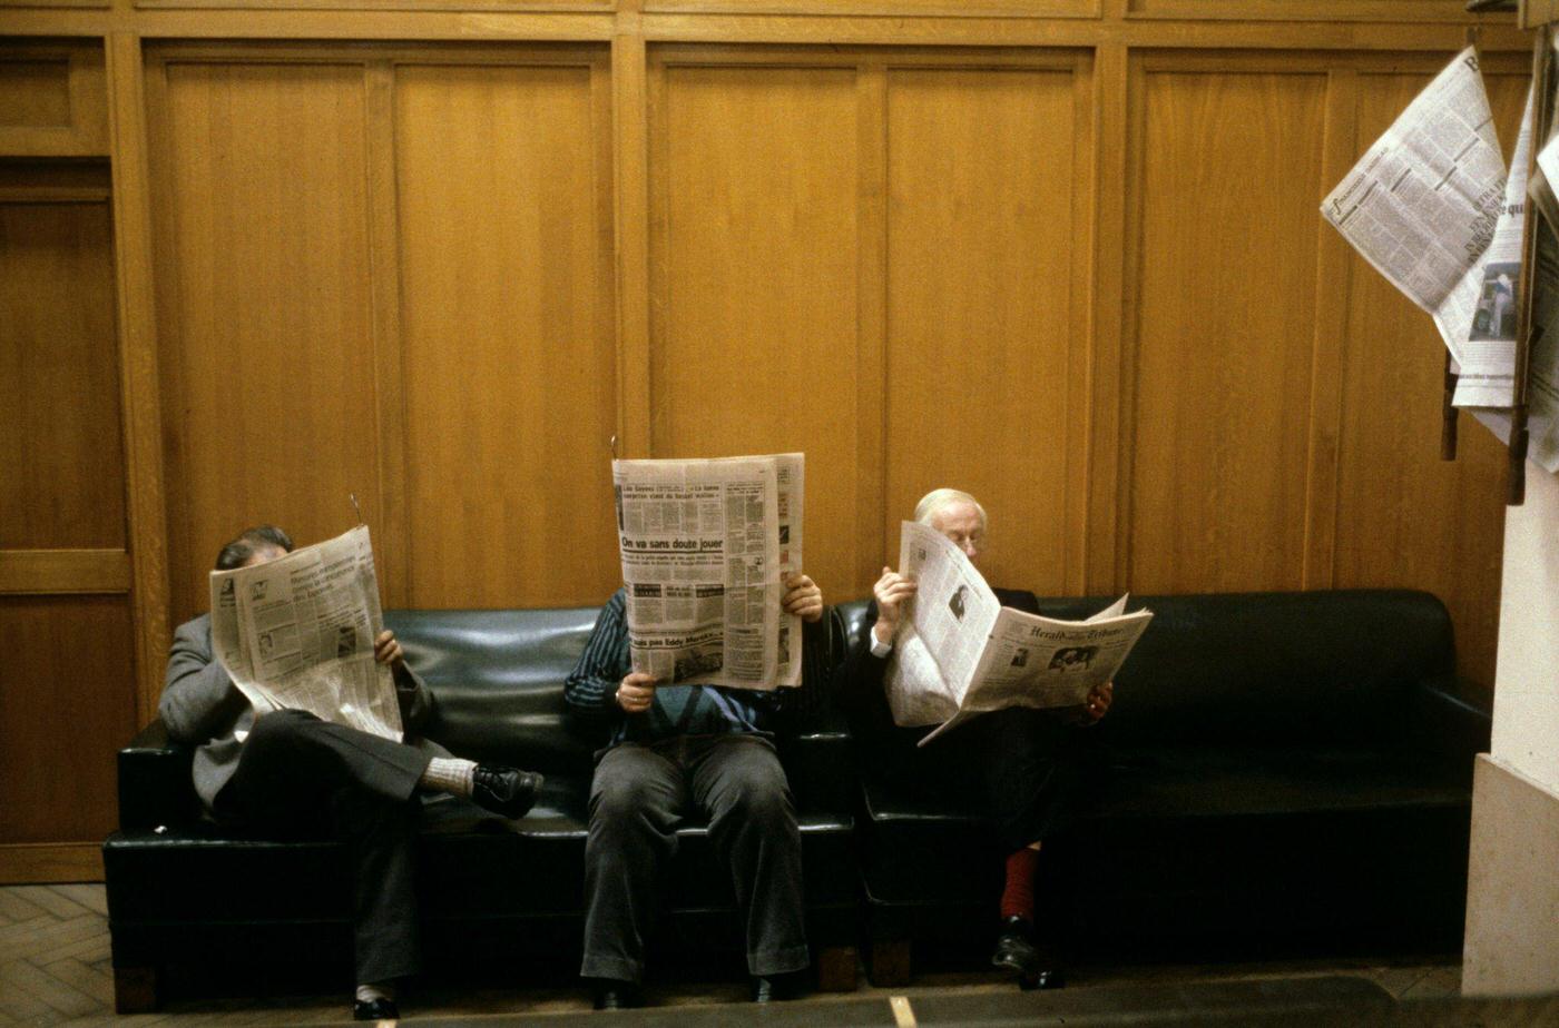
[[[1388,964],[1384,961],[1313,961],[1283,964],[1152,966],[1152,967],[1074,967],[1071,988],[1090,989],[1121,984],[1185,984],[1218,980],[1296,978],[1310,975],[1355,975],[1378,983],[1397,998],[1453,997],[1461,988],[1459,964],[1425,959]],[[999,992],[1013,986],[995,973],[928,973],[907,989],[892,994]],[[741,983],[681,984],[652,992],[656,1005],[703,1006],[739,1003]],[[853,997],[817,995],[818,1020],[826,1020],[826,1005],[840,998],[878,995],[862,977],[862,991]],[[490,1016],[577,1012],[589,1002],[577,983],[553,989],[427,991],[407,1003],[410,1019],[430,1016]],[[733,1008],[734,1009],[734,1008]],[[182,1000],[157,1014],[114,1019],[114,975],[109,964],[108,907],[101,885],[31,885],[0,888],[0,1023],[58,1025],[109,1022],[142,1025],[262,1025],[340,1022],[346,997],[268,997]]]

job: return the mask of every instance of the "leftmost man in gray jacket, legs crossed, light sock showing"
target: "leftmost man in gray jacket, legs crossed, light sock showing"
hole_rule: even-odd
[[[366,536],[366,530],[362,531]],[[288,558],[292,553],[287,533],[260,525],[221,548],[217,573],[312,556],[298,551]],[[235,589],[245,586],[242,575],[228,581],[235,581]],[[263,592],[268,593],[270,586]],[[278,631],[290,623],[298,631],[299,618],[293,615],[288,621],[287,617],[270,609],[268,623]],[[401,726],[415,734],[433,712],[432,693],[407,667],[393,632],[380,631],[382,625],[371,623],[366,614],[348,620],[362,621],[365,637],[357,639],[351,629],[352,639],[348,639],[335,626],[332,653],[366,656],[371,651],[369,667],[385,670],[393,682],[394,734],[399,735]],[[256,642],[256,648],[263,645]],[[270,643],[273,651],[279,645]],[[334,836],[346,843],[355,874],[359,984],[352,1016],[357,1020],[394,1019],[394,981],[416,973],[421,963],[412,866],[418,793],[469,796],[494,813],[519,818],[530,808],[541,776],[477,765],[451,757],[429,740],[398,741],[281,706],[276,693],[265,690],[263,673],[251,679],[249,688],[240,688],[215,659],[215,651],[210,614],[181,625],[173,634],[157,704],[168,735],[196,748],[195,791],[217,821],[257,836]],[[259,664],[256,657],[249,671]],[[298,698],[304,699],[302,687],[298,688]],[[338,699],[321,701],[315,695],[309,706],[329,709],[332,704],[341,706]],[[242,882],[228,885],[243,888]]]

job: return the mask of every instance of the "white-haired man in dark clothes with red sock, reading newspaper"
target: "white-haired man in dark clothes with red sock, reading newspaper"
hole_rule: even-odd
[[[967,492],[928,492],[915,506],[915,522],[951,540],[970,564],[976,564],[985,550],[985,508]],[[973,617],[974,604],[984,603],[971,583],[954,581],[951,589],[942,592],[949,615]],[[984,579],[979,583],[984,584]],[[974,797],[995,822],[1009,857],[992,964],[1013,972],[1023,988],[1059,988],[1063,975],[1055,939],[1048,931],[1049,925],[1035,917],[1035,869],[1043,841],[1069,816],[1082,740],[1077,729],[1093,726],[1110,710],[1113,685],[1102,681],[1085,688],[1068,707],[1004,706],[981,713],[931,746],[920,746],[929,724],[945,721],[957,710],[957,698],[949,695],[943,702],[929,702],[929,713],[920,718],[918,727],[895,723],[884,684],[909,625],[906,611],[918,590],[920,583],[914,578],[882,569],[867,609],[868,631],[837,668],[834,695],[850,712],[853,735],[879,774],[946,794],[954,802]],[[996,589],[995,598],[1004,607],[1038,612],[1032,592]],[[1046,664],[1054,659],[1063,664],[1088,659],[1091,664],[1091,656],[1077,650],[1057,650]],[[1015,657],[1013,651],[1007,659]],[[968,653],[963,659],[973,667],[981,654]],[[1034,659],[1032,654],[1027,659]]]

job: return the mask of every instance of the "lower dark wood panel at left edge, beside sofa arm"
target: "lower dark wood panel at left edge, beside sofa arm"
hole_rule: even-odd
[[[136,732],[131,631],[123,597],[0,597],[0,843],[114,829],[114,752]]]

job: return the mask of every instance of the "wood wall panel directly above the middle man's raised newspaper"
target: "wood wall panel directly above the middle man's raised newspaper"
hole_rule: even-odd
[[[804,450],[806,565],[856,569],[853,67],[652,72],[652,450]]]

